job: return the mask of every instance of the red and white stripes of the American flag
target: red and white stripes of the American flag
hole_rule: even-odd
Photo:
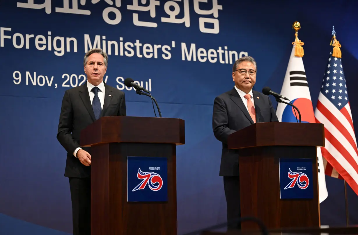
[[[320,92],[315,119],[324,125],[325,173],[345,179],[358,194],[358,149],[349,102],[339,110]]]

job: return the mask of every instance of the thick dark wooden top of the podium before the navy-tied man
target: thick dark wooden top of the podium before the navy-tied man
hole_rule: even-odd
[[[164,117],[101,117],[81,131],[80,145],[112,142],[185,144],[184,120]]]

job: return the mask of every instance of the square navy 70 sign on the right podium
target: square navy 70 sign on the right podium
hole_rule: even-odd
[[[311,199],[313,198],[313,164],[315,157],[310,158],[281,158],[280,168],[280,198],[281,199]]]

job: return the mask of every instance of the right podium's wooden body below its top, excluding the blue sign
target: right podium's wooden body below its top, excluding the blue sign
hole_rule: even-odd
[[[241,216],[254,216],[267,228],[320,226],[316,147],[266,146],[240,149]],[[279,158],[310,158],[313,199],[280,199]],[[258,228],[242,223],[242,230]]]

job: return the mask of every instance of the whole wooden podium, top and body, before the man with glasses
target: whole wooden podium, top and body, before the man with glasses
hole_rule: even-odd
[[[241,217],[256,217],[267,229],[319,228],[316,147],[322,146],[324,126],[316,123],[259,122],[229,135],[228,149],[237,149],[239,155]],[[288,179],[289,172],[285,171],[280,176],[279,162],[287,159],[303,159],[306,165],[312,165],[312,172],[304,171],[304,168],[291,169],[313,174],[309,181],[313,186],[311,198],[280,198],[289,190],[298,190],[299,193],[303,192],[300,190],[306,190],[293,184],[287,191],[281,185],[280,192],[280,179]],[[320,167],[323,170],[323,166]],[[304,182],[301,182],[304,188],[302,184]],[[241,228],[242,231],[248,231],[256,230],[258,226],[245,221]]]

